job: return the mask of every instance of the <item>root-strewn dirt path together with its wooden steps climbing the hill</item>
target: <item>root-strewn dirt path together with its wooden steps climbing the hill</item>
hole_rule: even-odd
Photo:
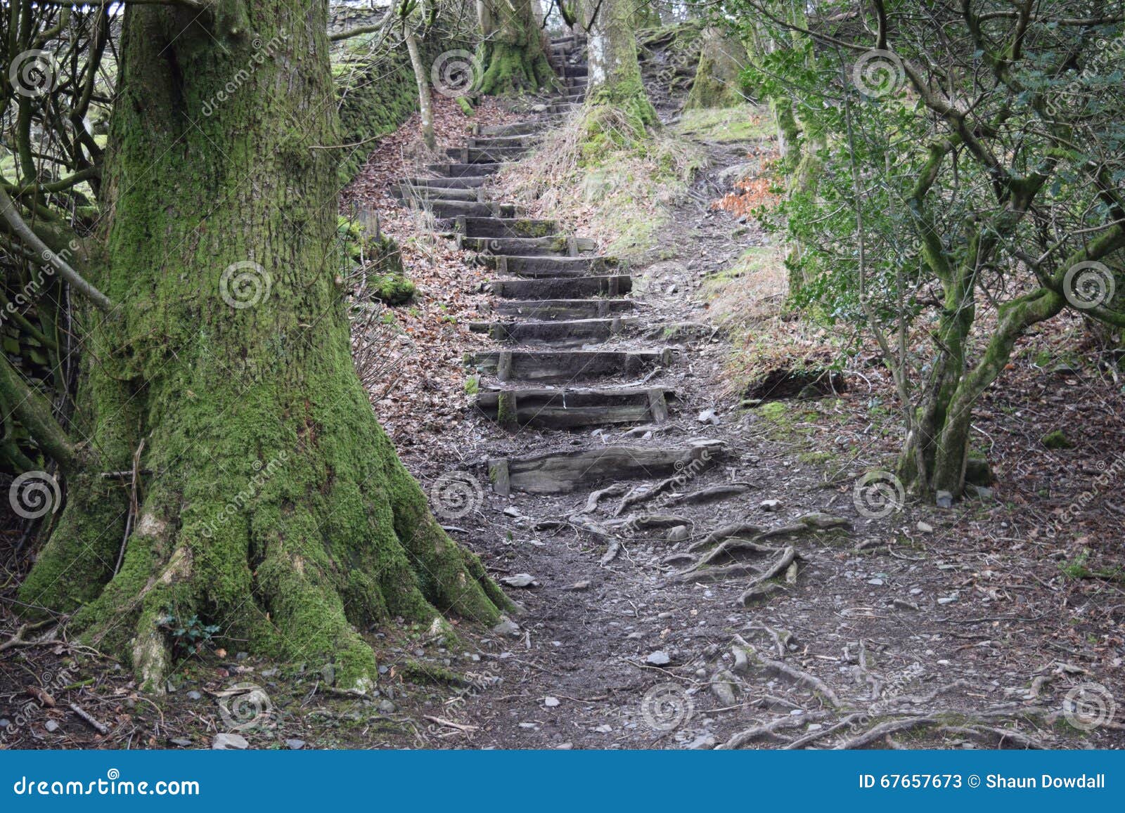
[[[712,169],[642,274],[485,197],[582,103],[580,46],[554,40],[565,90],[542,115],[478,127],[400,187],[494,272],[493,314],[472,325],[494,347],[467,360],[492,445],[464,473],[484,498],[449,530],[523,606],[475,651],[424,653],[456,654],[471,684],[429,714],[430,744],[1059,744],[1051,686],[1065,675],[1032,698],[1006,689],[1030,681],[1019,609],[939,603],[960,566],[874,544],[893,517],[873,522],[850,484],[826,485],[784,436],[721,408],[722,342],[690,293],[767,243],[709,207],[746,145],[704,145]],[[998,635],[1017,644],[973,645]]]

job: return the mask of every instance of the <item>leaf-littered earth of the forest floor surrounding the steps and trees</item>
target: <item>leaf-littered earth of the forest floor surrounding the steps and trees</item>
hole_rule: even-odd
[[[141,694],[110,654],[35,643],[35,631],[4,643],[19,626],[6,604],[0,747],[207,748],[248,714],[255,723],[241,731],[253,748],[1125,747],[1115,504],[1125,472],[1114,467],[1125,416],[1116,381],[1081,353],[1056,350],[1064,340],[1073,346],[1081,326],[1029,336],[1005,386],[981,404],[976,432],[997,478],[990,491],[948,509],[906,500],[870,516],[883,512],[865,508],[856,482],[891,468],[900,443],[893,392],[873,354],[845,371],[838,396],[744,405],[747,369],[828,362],[844,341],[783,313],[780,247],[739,204],[768,187],[772,135],[677,129],[675,105],[660,108],[669,129],[706,156],[686,193],[667,201],[657,250],[630,269],[646,319],[678,326],[662,333],[678,351],[668,373],[678,394],[673,419],[642,427],[650,436],[512,434],[474,414],[461,358],[483,343],[467,328],[487,309],[483,271],[387,196],[414,160],[415,123],[385,139],[346,196],[380,213],[420,289],[367,337],[394,359],[394,383],[374,390],[372,405],[425,488],[529,449],[722,441],[721,463],[680,490],[737,493],[667,511],[687,521],[691,539],[734,522],[772,529],[810,513],[843,521],[788,543],[800,562],[795,582],[744,607],[738,579],[676,578],[675,557],[688,542],[664,531],[622,540],[610,559],[604,539],[569,521],[587,493],[501,497],[485,488],[451,533],[495,577],[533,577],[508,590],[523,607],[518,630],[460,624],[453,648],[390,624],[371,638],[384,679],[369,698],[333,694],[318,665],[224,650],[186,658],[158,697]],[[500,106],[477,112],[518,115]],[[468,125],[439,100],[446,143]],[[738,165],[750,175],[734,189]],[[1071,449],[1040,442],[1059,428]],[[593,514],[608,518],[620,496]],[[4,539],[7,596],[26,554],[12,551],[18,534]],[[757,665],[740,662],[732,643],[741,642]],[[238,684],[260,694],[232,695]],[[1073,714],[1086,713],[1083,703],[1106,710],[1088,730]]]

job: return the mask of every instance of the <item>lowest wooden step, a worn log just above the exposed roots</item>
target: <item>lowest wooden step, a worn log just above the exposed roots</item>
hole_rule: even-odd
[[[496,494],[569,494],[605,480],[694,476],[721,460],[721,441],[692,440],[683,446],[600,445],[569,452],[544,452],[488,461],[488,480]]]

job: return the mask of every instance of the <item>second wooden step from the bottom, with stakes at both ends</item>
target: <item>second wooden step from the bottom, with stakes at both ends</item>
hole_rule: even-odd
[[[482,392],[476,407],[505,428],[569,430],[668,419],[676,392],[664,387],[504,388]]]

